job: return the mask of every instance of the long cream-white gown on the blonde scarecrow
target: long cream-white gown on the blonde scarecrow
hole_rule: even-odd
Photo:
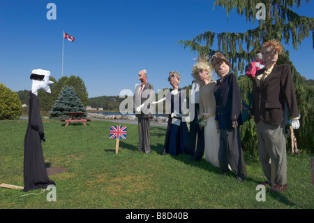
[[[209,116],[204,127],[205,138],[205,159],[216,167],[219,167],[218,150],[219,150],[219,134],[217,133],[215,114],[216,100],[214,97],[214,87],[216,82],[209,82],[207,85],[200,87],[200,115],[202,113]]]

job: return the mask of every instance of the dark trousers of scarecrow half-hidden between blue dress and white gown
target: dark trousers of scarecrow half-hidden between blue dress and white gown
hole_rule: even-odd
[[[195,117],[192,122],[190,122],[190,150],[191,154],[194,155],[195,159],[202,159],[204,156],[204,128],[200,127],[197,123],[197,113],[200,109],[198,103],[195,103]],[[197,143],[196,143],[197,136]]]

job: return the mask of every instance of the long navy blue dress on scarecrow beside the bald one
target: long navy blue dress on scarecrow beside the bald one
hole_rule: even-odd
[[[172,92],[173,89],[170,90]],[[171,113],[174,112],[174,105],[179,104],[179,113],[181,114],[181,89],[179,89],[179,96],[171,94]],[[168,118],[167,132],[165,136],[165,145],[163,146],[164,154],[172,154],[177,156],[180,153],[193,154],[190,151],[188,126],[186,122],[182,122],[181,117],[171,117],[171,113]],[[172,123],[174,119],[179,120],[180,124]]]

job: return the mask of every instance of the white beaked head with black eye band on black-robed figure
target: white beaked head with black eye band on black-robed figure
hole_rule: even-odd
[[[49,85],[54,82],[50,81],[50,71],[45,71],[42,69],[35,69],[31,71],[31,80],[33,80],[31,85],[31,93],[38,94],[39,89],[43,89],[47,93],[51,93]]]

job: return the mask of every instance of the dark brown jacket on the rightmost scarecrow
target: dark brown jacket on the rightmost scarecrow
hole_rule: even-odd
[[[265,69],[257,71],[255,77],[264,73]],[[289,64],[274,65],[273,70],[264,79],[262,87],[254,81],[254,94],[251,115],[255,123],[266,122],[279,125],[283,121],[285,103],[290,117],[299,117],[297,99],[292,82]]]

